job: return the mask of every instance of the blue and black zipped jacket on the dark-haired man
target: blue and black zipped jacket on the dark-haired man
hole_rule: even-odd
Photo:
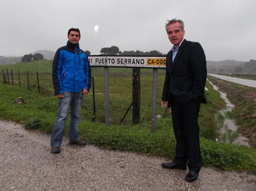
[[[55,95],[68,92],[90,90],[92,73],[86,53],[79,44],[68,41],[66,46],[57,49],[52,62],[52,81]]]

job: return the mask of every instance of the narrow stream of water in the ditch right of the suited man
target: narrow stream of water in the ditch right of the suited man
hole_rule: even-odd
[[[233,145],[245,145],[249,146],[247,139],[243,137],[240,133],[237,133],[237,126],[234,122],[234,120],[231,120],[230,118],[226,117],[226,113],[232,111],[232,109],[235,107],[228,98],[226,97],[226,94],[220,90],[218,90],[217,86],[214,86],[212,82],[209,82],[212,84],[214,90],[220,92],[220,96],[222,99],[224,99],[226,103],[226,107],[222,109],[219,113],[224,117],[224,122],[222,124],[222,128],[220,130],[221,136],[220,141],[221,142],[232,142]]]

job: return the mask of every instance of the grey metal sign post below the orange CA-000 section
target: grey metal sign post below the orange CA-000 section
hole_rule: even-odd
[[[158,69],[153,69],[153,94],[152,94],[152,111],[151,111],[151,132],[156,128],[156,92],[158,89]]]

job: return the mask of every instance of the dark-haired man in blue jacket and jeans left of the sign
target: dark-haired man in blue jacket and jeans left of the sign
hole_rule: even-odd
[[[86,53],[79,48],[80,37],[78,28],[69,29],[68,43],[57,49],[52,63],[53,87],[59,99],[51,136],[51,152],[54,154],[60,152],[69,107],[69,142],[80,146],[86,145],[86,142],[79,138],[78,125],[82,99],[90,90],[91,69]]]

